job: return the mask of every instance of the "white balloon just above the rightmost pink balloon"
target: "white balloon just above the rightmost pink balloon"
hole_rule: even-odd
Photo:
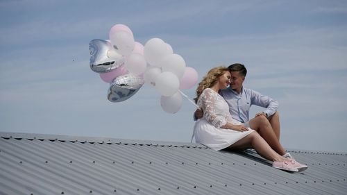
[[[182,78],[185,74],[185,60],[178,54],[170,54],[162,58],[160,61],[162,71],[171,71],[178,78]]]

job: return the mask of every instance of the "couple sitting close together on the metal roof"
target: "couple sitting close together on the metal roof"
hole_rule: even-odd
[[[247,70],[242,64],[214,67],[198,84],[194,117],[197,143],[221,149],[253,148],[272,167],[286,171],[304,171],[307,166],[296,162],[280,144],[278,101],[242,86]],[[249,108],[266,108],[248,121]]]

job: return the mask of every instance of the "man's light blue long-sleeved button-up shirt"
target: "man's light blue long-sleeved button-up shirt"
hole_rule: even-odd
[[[237,92],[230,87],[225,90],[220,90],[219,94],[221,94],[228,103],[232,118],[242,123],[249,121],[249,110],[251,105],[258,105],[262,108],[266,108],[263,112],[266,113],[268,117],[272,116],[278,109],[278,101],[245,87],[242,87],[240,94],[237,94]]]

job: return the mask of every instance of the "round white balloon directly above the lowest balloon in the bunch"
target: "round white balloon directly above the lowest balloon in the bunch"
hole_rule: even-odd
[[[180,87],[180,80],[172,72],[165,71],[160,73],[155,78],[155,89],[160,92],[162,96],[172,96],[178,92]]]

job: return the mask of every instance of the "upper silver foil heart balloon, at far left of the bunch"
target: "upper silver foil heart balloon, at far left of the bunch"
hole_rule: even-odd
[[[92,71],[105,73],[124,65],[124,57],[110,58],[108,56],[111,49],[113,49],[111,43],[105,40],[90,41],[90,68]]]

